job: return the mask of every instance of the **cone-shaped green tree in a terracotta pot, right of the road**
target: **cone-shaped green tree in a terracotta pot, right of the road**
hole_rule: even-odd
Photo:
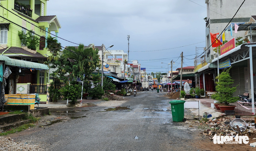
[[[236,91],[237,86],[232,86],[234,80],[231,79],[229,70],[230,68],[228,70],[224,70],[216,77],[217,86],[215,89],[217,93],[212,95],[213,99],[216,99],[220,103],[224,103],[218,105],[222,112],[225,110],[234,110],[236,106],[230,105],[229,103],[235,103],[239,99],[238,97],[233,97],[233,93]]]

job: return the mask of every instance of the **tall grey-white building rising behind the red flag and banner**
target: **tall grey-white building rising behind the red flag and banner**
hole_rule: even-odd
[[[224,0],[224,1],[216,1],[216,0],[205,0],[205,3],[207,4],[207,20],[206,20],[206,49],[211,45],[210,41],[210,33],[220,33],[223,31],[223,29],[227,26],[227,24],[230,22],[249,22],[251,15],[256,14],[256,9],[254,7],[251,7],[251,4],[254,4],[254,0],[247,0],[243,3],[239,11],[235,15],[236,11],[242,4],[241,0]],[[229,41],[234,37],[248,37],[250,39],[250,34],[248,32],[245,33],[245,31],[241,31],[238,33],[234,33],[234,29],[232,31],[232,35],[229,32],[225,34],[225,40]],[[256,32],[252,31],[252,42],[256,42]],[[211,63],[211,61],[214,59],[214,52],[212,47],[208,48],[206,50],[206,61],[207,63]]]

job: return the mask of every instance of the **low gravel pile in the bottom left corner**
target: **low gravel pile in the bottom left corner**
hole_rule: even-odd
[[[37,145],[29,145],[28,143],[14,142],[10,137],[0,137],[1,151],[40,151]]]

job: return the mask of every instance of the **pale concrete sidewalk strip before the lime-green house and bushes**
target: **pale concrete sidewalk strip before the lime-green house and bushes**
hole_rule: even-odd
[[[81,99],[78,99],[80,102]],[[70,102],[70,101],[68,101]],[[95,105],[100,104],[101,102],[105,102],[103,99],[82,99],[82,103],[93,103]],[[37,105],[35,105],[37,107]],[[49,102],[49,104],[39,104],[39,107],[47,107],[47,108],[70,108],[67,105],[67,100],[58,100],[58,102]]]

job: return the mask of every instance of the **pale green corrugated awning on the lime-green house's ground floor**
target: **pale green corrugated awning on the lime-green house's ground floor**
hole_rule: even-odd
[[[36,69],[36,70],[49,70],[49,68],[46,64],[11,59],[11,58],[9,58],[7,56],[3,56],[3,55],[0,55],[0,60],[5,61],[5,64],[9,65],[9,66],[28,68],[28,69]]]

